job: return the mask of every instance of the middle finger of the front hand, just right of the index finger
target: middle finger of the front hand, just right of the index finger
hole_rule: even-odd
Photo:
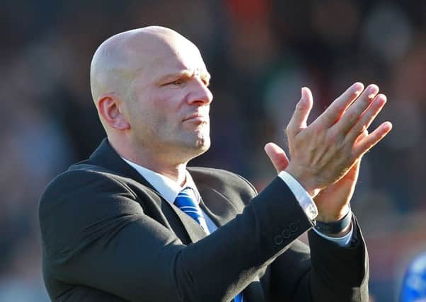
[[[374,84],[369,85],[364,92],[359,95],[359,98],[347,108],[340,120],[333,126],[333,131],[346,134],[357,120],[359,120],[363,112],[369,108],[369,105],[372,103],[377,93],[379,93],[379,87]]]

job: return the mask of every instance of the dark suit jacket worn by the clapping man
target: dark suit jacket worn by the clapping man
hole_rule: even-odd
[[[280,178],[257,194],[225,170],[189,168],[200,226],[105,139],[55,178],[40,201],[43,275],[53,301],[367,301],[368,261],[357,242],[340,248],[313,226]]]

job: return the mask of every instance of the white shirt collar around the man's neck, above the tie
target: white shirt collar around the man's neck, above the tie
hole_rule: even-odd
[[[154,189],[157,190],[164,199],[166,199],[167,202],[173,204],[178,193],[183,190],[183,188],[190,187],[197,197],[197,202],[200,203],[200,193],[198,192],[197,186],[195,185],[194,180],[192,180],[188,170],[185,170],[185,184],[182,187],[178,184],[178,182],[175,182],[175,180],[161,175],[160,173],[156,173],[153,170],[142,167],[142,165],[133,163],[126,158],[122,158],[122,160],[132,166],[134,170],[137,170],[137,172],[142,175],[142,177],[144,177],[154,187]]]

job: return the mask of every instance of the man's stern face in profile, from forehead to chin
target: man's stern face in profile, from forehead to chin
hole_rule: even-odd
[[[127,106],[132,141],[188,161],[210,146],[210,76],[188,40],[158,48],[132,83]]]

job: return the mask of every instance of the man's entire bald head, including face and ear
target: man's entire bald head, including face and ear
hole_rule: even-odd
[[[185,163],[209,148],[209,78],[198,48],[159,26],[110,37],[91,64],[93,100],[110,143],[144,166]]]

